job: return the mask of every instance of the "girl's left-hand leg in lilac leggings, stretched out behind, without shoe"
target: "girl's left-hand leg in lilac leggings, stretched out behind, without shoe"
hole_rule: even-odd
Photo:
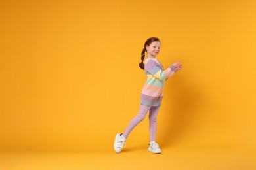
[[[131,131],[133,130],[133,128],[137,126],[137,124],[139,124],[142,120],[144,120],[149,109],[150,107],[148,106],[140,105],[139,113],[137,114],[137,116],[135,116],[135,118],[131,120],[131,122],[128,124],[127,128],[125,129],[125,132],[123,132],[124,137],[127,138],[129,136],[129,133],[131,133]]]

